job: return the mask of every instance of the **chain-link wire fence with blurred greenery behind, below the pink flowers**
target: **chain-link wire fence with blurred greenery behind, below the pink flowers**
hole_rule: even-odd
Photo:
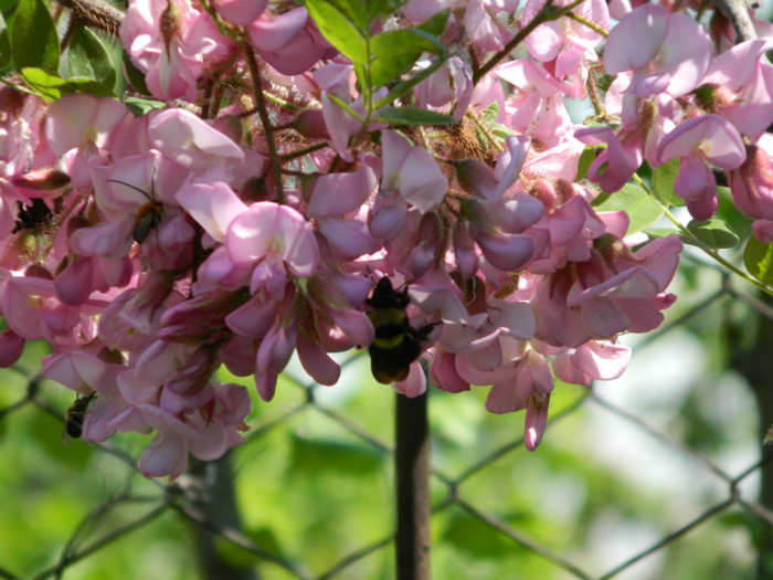
[[[431,392],[433,577],[773,578],[771,386],[743,367],[770,368],[772,310],[689,256],[677,284],[626,378],[557,387],[536,453],[485,389]],[[367,356],[332,389],[290,369],[246,444],[168,484],[140,436],[61,445],[72,394],[36,377],[43,348],[0,394],[0,577],[394,576],[394,394]]]

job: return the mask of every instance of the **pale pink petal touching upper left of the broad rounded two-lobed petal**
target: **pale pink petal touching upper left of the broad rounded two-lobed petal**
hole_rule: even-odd
[[[233,190],[218,181],[192,183],[177,193],[177,201],[214,240],[222,242],[231,222],[247,207]]]

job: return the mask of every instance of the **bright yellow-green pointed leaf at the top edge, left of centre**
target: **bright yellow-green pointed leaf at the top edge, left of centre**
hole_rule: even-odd
[[[362,8],[363,15],[350,10],[348,4],[357,3]],[[343,8],[342,8],[343,7]],[[347,55],[354,64],[368,62],[368,44],[370,35],[368,15],[364,7],[358,0],[306,0],[306,9],[317,23],[322,36]],[[362,25],[361,19],[364,20]]]

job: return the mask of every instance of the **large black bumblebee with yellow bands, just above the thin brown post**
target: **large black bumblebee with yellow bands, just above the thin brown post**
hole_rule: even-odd
[[[366,300],[370,307],[368,319],[375,329],[375,338],[368,347],[370,369],[375,380],[390,384],[405,380],[411,363],[422,352],[421,342],[426,340],[434,325],[414,328],[405,314],[411,299],[407,287],[395,291],[392,282],[382,277]]]

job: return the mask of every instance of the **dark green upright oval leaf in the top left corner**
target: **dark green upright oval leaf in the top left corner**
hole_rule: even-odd
[[[43,0],[19,0],[11,29],[11,53],[17,71],[28,66],[56,71],[60,54],[56,25]]]

